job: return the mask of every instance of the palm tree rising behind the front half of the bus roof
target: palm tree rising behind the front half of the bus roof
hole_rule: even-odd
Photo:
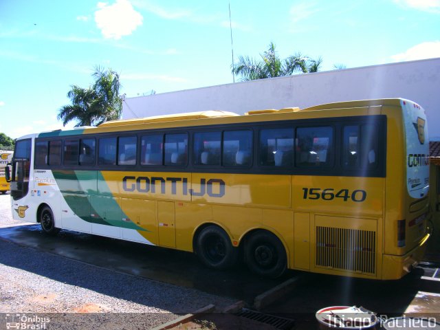
[[[57,117],[63,120],[63,126],[71,120],[78,122],[75,126],[97,126],[120,118],[122,99],[119,96],[119,75],[111,69],[95,67],[92,76],[94,84],[87,89],[71,86],[67,97],[72,104],[64,105],[58,111]]]

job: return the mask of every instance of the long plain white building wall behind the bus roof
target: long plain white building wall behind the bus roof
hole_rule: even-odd
[[[406,98],[419,103],[426,109],[430,140],[440,141],[440,58],[126,98],[122,118],[206,110],[243,114],[372,98]]]

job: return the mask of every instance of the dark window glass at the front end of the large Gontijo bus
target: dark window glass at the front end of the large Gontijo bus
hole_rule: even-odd
[[[31,140],[17,141],[12,158],[11,196],[17,201],[29,192]],[[9,168],[7,169],[9,170]]]

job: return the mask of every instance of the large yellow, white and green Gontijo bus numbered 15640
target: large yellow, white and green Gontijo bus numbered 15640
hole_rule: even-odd
[[[9,170],[8,170],[9,175]],[[17,140],[14,219],[286,269],[397,279],[423,256],[428,125],[410,100],[205,111]]]

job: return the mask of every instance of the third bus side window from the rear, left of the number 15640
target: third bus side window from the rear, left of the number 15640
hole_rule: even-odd
[[[260,165],[291,167],[294,164],[294,130],[262,129],[259,149]]]

